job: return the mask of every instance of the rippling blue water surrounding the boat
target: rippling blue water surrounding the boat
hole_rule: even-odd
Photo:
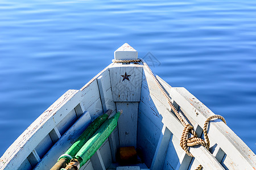
[[[2,0],[0,156],[125,42],[256,152],[256,1]]]

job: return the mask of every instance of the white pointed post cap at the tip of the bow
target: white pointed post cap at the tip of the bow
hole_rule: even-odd
[[[125,43],[114,52],[115,59],[138,59],[138,52],[129,44]]]

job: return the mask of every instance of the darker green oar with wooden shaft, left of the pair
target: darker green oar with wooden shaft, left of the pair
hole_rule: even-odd
[[[87,142],[90,137],[96,132],[98,128],[108,119],[109,115],[112,113],[112,110],[108,110],[105,114],[97,117],[85,131],[80,135],[75,143],[61,155],[57,163],[51,168],[51,170],[59,170],[65,168],[66,165],[71,161],[72,157],[77,154],[80,148]]]

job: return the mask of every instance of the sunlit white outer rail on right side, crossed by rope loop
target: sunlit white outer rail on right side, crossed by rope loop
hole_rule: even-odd
[[[203,127],[204,121],[214,114],[185,88],[172,88],[170,95],[175,98],[177,104],[182,105],[185,113],[190,114],[201,127]],[[256,156],[250,148],[222,121],[211,122],[208,128],[209,139],[212,143],[217,143],[227,155],[232,155],[230,159],[233,163],[236,162],[234,165],[237,165],[237,167],[233,167],[237,169],[255,167]]]

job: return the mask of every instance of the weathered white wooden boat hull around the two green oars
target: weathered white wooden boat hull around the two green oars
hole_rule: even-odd
[[[158,79],[200,136],[205,120],[214,113],[185,88]],[[80,169],[117,168],[117,150],[125,146],[134,146],[142,160],[134,169],[195,169],[199,164],[204,169],[256,168],[255,154],[220,120],[210,122],[209,151],[198,146],[190,148],[195,158],[185,154],[179,146],[184,127],[146,67],[112,63],[42,113],[3,154],[0,169],[50,169],[90,122],[108,109],[123,110],[118,127]]]

